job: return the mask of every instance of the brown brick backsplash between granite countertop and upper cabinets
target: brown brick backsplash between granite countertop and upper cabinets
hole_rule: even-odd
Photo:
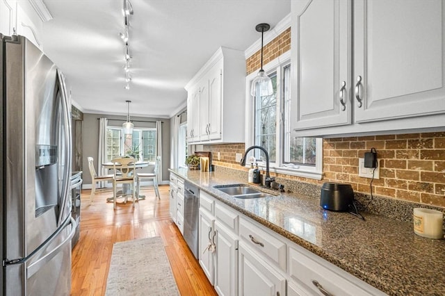
[[[322,180],[271,175],[307,183],[350,183],[355,192],[369,194],[371,179],[358,176],[358,158],[372,147],[380,166],[373,194],[445,207],[445,132],[324,139]],[[243,143],[204,145],[204,150],[212,152],[214,165],[247,170],[235,161],[236,153],[244,153]]]

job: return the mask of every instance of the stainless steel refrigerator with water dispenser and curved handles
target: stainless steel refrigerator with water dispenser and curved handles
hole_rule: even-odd
[[[70,295],[70,106],[63,74],[0,34],[1,295]]]

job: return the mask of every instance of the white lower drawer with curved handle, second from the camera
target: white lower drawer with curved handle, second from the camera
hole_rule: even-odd
[[[286,271],[286,244],[252,222],[242,219],[239,223],[239,236],[248,245],[275,262]]]

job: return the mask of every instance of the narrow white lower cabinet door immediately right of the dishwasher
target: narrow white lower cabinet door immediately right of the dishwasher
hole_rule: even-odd
[[[207,249],[209,242],[214,240],[215,229],[213,229],[213,222],[215,219],[210,215],[207,215],[204,211],[200,209],[200,230],[198,233],[200,250],[198,254],[198,261],[200,262],[204,274],[206,274],[207,279],[213,285],[213,253]]]

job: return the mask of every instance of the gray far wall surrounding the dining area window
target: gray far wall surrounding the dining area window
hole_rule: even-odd
[[[90,171],[88,170],[88,156],[92,156],[95,160],[95,169],[98,170],[97,155],[99,153],[99,117],[108,118],[108,126],[122,126],[125,122],[126,116],[118,115],[103,115],[103,114],[84,114],[83,115],[83,184],[91,184]],[[117,120],[113,120],[117,119]],[[139,127],[156,127],[156,120],[161,120],[162,124],[162,179],[163,181],[169,180],[168,168],[170,167],[170,119],[169,118],[152,118],[152,117],[133,117],[133,120],[143,120],[152,122],[133,122],[135,128]],[[149,171],[148,167],[141,169],[138,172]]]

